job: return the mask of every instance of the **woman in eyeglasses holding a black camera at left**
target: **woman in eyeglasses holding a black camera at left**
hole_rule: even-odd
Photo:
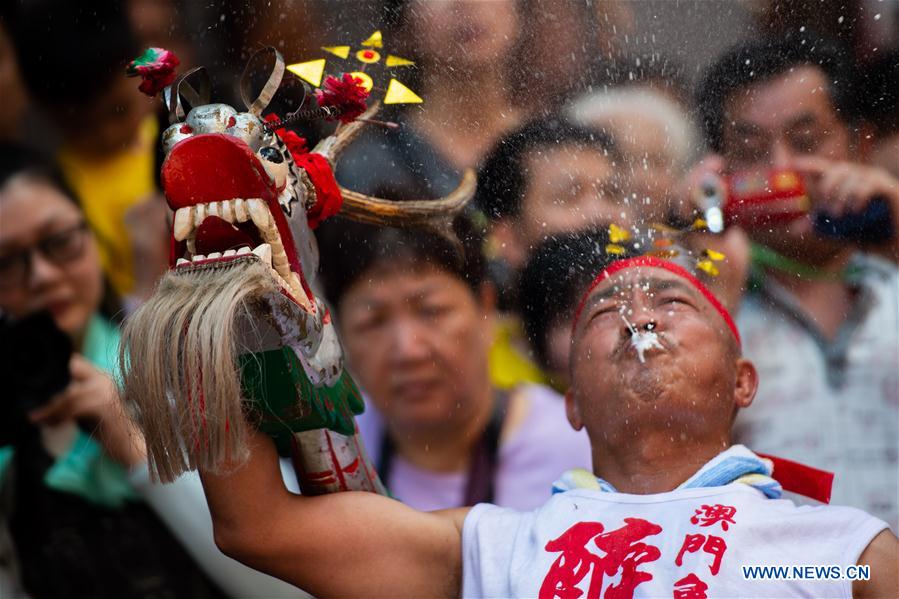
[[[198,478],[150,483],[112,378],[107,289],[63,180],[0,145],[0,596],[299,596],[224,557],[202,518],[178,519],[205,509]],[[47,325],[22,333],[37,314]],[[67,377],[50,393],[57,356]]]

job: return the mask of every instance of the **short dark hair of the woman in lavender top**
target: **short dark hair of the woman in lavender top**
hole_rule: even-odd
[[[482,253],[484,227],[468,214],[453,220],[461,243],[436,231],[392,228],[332,220],[316,231],[321,255],[320,277],[325,297],[339,308],[347,291],[377,267],[433,267],[465,282],[477,293],[486,277]],[[460,251],[461,250],[461,251]]]

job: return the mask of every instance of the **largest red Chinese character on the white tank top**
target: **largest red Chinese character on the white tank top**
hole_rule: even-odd
[[[660,532],[661,526],[640,518],[625,518],[624,526],[607,533],[603,533],[599,522],[578,522],[546,544],[546,551],[562,555],[543,579],[540,599],[577,599],[584,593],[577,585],[588,575],[586,599],[598,599],[604,576],[618,572],[621,581],[607,588],[603,596],[607,599],[632,597],[637,585],[652,580],[652,574],[638,571],[637,567],[661,556],[658,547],[639,541]],[[600,557],[589,551],[587,543],[591,540],[605,555]]]

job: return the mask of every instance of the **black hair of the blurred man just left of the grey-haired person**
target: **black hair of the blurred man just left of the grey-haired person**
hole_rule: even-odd
[[[617,159],[612,139],[559,117],[539,118],[502,137],[481,164],[475,204],[491,219],[518,216],[526,192],[528,154],[545,146],[573,144]]]

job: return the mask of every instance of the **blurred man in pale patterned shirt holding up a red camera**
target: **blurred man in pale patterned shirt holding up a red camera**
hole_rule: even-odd
[[[763,383],[738,438],[834,471],[834,503],[895,529],[899,181],[864,162],[851,75],[807,33],[731,50],[700,86],[714,154],[693,178],[720,177],[725,223],[753,242],[737,320]]]

